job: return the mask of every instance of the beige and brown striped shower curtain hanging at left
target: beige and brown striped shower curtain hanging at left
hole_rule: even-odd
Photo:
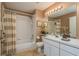
[[[15,55],[16,52],[16,13],[12,10],[5,9],[2,18],[2,55]]]

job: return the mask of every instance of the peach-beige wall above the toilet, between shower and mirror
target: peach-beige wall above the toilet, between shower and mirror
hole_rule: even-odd
[[[42,30],[42,28],[40,26],[37,26],[37,22],[43,23],[43,22],[47,21],[47,17],[44,17],[44,11],[43,10],[36,10],[35,20],[36,20],[36,30],[35,30],[36,36],[40,36],[41,35],[40,31]],[[39,40],[39,41],[41,41],[41,40]]]

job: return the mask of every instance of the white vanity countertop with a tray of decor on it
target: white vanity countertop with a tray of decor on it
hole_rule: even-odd
[[[56,37],[56,36],[52,36],[52,35],[46,35],[44,38],[48,39],[48,40],[60,42],[61,44],[65,44],[65,45],[79,49],[79,39],[69,38],[70,41],[63,41],[63,40],[61,40],[62,39],[61,36]]]

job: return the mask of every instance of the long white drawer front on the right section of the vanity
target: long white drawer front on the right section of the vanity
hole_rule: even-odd
[[[60,44],[60,49],[63,49],[65,51],[68,51],[69,53],[79,56],[79,49],[65,45],[65,44]]]

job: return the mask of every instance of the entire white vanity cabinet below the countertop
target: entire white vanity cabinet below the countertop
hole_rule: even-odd
[[[45,38],[44,54],[47,56],[79,56],[79,48]]]

